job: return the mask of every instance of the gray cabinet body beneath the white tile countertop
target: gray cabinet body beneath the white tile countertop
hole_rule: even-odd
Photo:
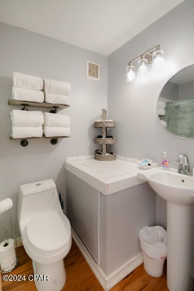
[[[138,266],[142,262],[138,233],[145,226],[156,225],[156,194],[148,183],[102,194],[100,180],[97,190],[83,180],[84,175],[83,179],[76,176],[78,169],[75,174],[65,173],[67,217],[101,271],[113,276],[126,264],[133,269],[131,261]],[[112,189],[111,183],[105,185]]]

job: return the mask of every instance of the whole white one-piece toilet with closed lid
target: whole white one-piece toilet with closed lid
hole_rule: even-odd
[[[54,181],[21,185],[17,215],[34,275],[49,276],[49,280],[47,276],[36,278],[37,290],[60,291],[66,279],[63,259],[71,247],[71,226],[61,208]]]

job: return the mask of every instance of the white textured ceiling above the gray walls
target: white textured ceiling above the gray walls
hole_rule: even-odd
[[[109,55],[183,0],[0,0],[0,22]]]

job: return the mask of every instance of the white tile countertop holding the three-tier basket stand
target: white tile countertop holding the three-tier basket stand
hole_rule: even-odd
[[[66,158],[65,169],[102,194],[110,195],[146,182],[137,177],[141,171],[139,162],[122,156],[108,162],[97,161],[93,155],[80,156]],[[152,163],[151,167],[156,168],[157,164]]]

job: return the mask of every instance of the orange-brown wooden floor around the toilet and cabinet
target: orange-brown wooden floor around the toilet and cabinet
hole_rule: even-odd
[[[18,248],[19,262],[17,268],[9,274],[28,275],[33,274],[32,260],[26,254],[24,248]],[[96,276],[93,274],[86,260],[81,255],[75,242],[69,254],[65,258],[66,282],[63,291],[103,291]],[[34,282],[1,282],[2,291],[36,291]],[[166,267],[164,275],[160,278],[149,276],[143,264],[126,276],[114,286],[111,291],[168,291],[166,286]]]

